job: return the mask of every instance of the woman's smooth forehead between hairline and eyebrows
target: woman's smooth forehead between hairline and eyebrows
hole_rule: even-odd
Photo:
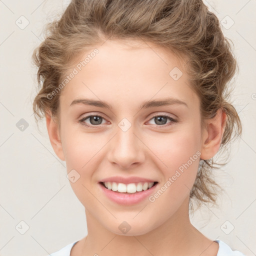
[[[98,53],[88,58],[95,48]],[[86,57],[89,61],[84,64]],[[190,88],[185,61],[152,43],[107,40],[79,56],[70,68],[76,74],[61,91],[61,98],[69,105],[86,97],[118,106],[171,96],[194,105],[198,99]]]

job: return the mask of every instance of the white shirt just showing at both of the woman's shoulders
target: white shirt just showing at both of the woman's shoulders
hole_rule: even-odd
[[[221,240],[215,240],[218,245],[219,245],[219,248],[218,248],[218,253],[216,256],[245,256],[243,253],[241,253],[240,251],[238,250],[232,250],[226,243],[224,243],[223,241]],[[77,241],[76,241],[77,242]],[[54,253],[51,253],[50,255],[51,256],[70,256],[70,251],[71,251],[71,248],[73,247],[73,245],[76,243],[76,242],[71,242],[69,243],[68,245],[66,245],[65,247],[61,248],[60,250],[54,252]],[[47,255],[47,256],[50,256],[50,255]]]

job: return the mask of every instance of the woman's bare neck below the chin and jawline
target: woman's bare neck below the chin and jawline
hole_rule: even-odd
[[[187,198],[167,221],[139,235],[119,235],[110,232],[85,210],[88,235],[72,249],[73,254],[70,255],[215,256],[218,245],[203,236],[190,223],[188,202]]]

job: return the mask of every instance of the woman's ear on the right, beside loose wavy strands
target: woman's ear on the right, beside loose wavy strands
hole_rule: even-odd
[[[226,113],[219,108],[213,118],[206,120],[206,129],[203,130],[200,158],[207,160],[218,151],[226,125]]]

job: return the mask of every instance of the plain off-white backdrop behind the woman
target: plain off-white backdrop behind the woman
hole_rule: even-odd
[[[0,0],[0,255],[46,255],[87,234],[83,205],[55,155],[45,121],[38,131],[32,100],[36,69],[31,54],[43,26],[69,1]],[[233,41],[239,72],[232,102],[243,124],[231,146],[230,161],[216,171],[225,189],[219,207],[191,215],[196,228],[246,255],[256,243],[256,0],[204,1]],[[21,20],[21,21],[20,21]],[[23,126],[22,126],[23,125]]]

